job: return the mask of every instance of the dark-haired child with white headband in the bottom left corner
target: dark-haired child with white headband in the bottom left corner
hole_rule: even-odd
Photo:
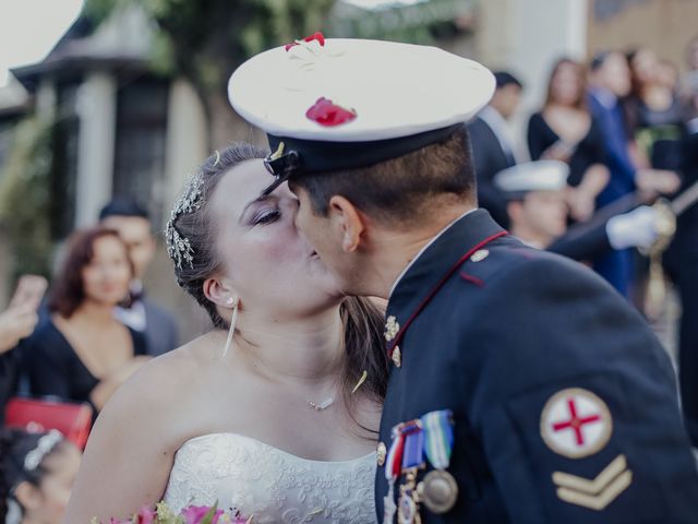
[[[58,524],[80,467],[63,436],[3,429],[0,433],[0,522]]]

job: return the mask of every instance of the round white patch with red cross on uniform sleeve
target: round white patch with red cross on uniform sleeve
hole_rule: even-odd
[[[606,404],[588,390],[555,393],[541,413],[541,437],[558,455],[581,458],[601,451],[613,432]]]

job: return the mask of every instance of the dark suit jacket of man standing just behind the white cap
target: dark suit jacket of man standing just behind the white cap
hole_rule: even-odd
[[[477,117],[467,126],[472,146],[472,160],[478,179],[478,200],[480,207],[490,212],[503,227],[508,227],[506,200],[494,187],[494,176],[507,167],[516,165],[515,158],[504,152],[492,128]]]

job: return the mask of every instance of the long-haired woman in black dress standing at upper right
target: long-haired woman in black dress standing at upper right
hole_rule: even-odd
[[[604,166],[603,136],[587,110],[583,67],[564,58],[553,67],[541,111],[528,124],[531,159],[569,164],[568,204],[575,221],[583,222],[594,211],[594,200],[609,181]]]

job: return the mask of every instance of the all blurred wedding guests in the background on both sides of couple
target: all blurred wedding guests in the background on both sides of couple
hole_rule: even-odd
[[[639,309],[651,271],[633,248],[651,250],[661,237],[658,199],[698,180],[698,37],[686,58],[683,75],[651,49],[561,59],[526,136],[512,124],[526,86],[500,71],[491,104],[468,124],[480,205],[524,241],[589,263]],[[698,206],[677,217],[663,248],[683,310],[682,402],[698,444]],[[46,298],[45,279],[20,279],[0,313],[0,422],[17,394],[87,405],[93,421],[145,361],[177,347],[176,320],[145,293],[155,249],[147,213],[119,199],[71,237]],[[2,430],[0,505],[21,507],[16,522],[60,522],[79,448],[48,427],[29,429]]]

